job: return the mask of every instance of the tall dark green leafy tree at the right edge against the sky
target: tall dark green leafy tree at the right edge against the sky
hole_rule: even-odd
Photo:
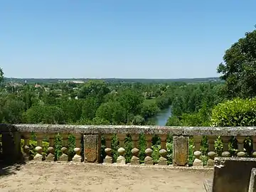
[[[217,71],[225,80],[224,92],[228,98],[256,96],[256,30],[245,33],[225,51],[225,63]]]

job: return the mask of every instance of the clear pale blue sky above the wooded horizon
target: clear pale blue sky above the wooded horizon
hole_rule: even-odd
[[[0,1],[13,78],[204,78],[255,29],[256,1]]]

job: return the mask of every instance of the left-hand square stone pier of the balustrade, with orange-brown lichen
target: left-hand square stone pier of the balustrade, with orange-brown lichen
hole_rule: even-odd
[[[94,163],[96,161],[100,161],[99,137],[99,134],[85,134],[84,136],[84,154],[85,159],[87,159],[87,162]]]

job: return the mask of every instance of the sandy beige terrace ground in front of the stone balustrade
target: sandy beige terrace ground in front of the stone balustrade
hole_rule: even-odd
[[[212,170],[32,163],[1,171],[0,191],[175,191],[200,192]]]

